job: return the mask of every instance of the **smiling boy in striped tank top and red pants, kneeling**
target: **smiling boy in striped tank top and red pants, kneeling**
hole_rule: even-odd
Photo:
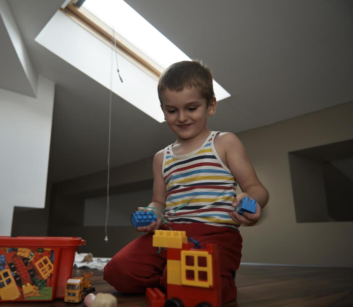
[[[219,247],[222,302],[235,300],[234,283],[241,258],[238,227],[259,220],[268,193],[256,176],[243,144],[229,132],[211,132],[208,116],[216,112],[210,69],[197,61],[169,66],[158,82],[158,97],[168,127],[177,140],[153,160],[153,198],[148,207],[165,210],[173,230]],[[237,185],[241,191],[236,195]],[[245,196],[256,199],[256,213],[234,211]],[[142,208],[138,208],[141,210]],[[153,209],[151,209],[153,210]],[[160,214],[155,209],[157,214]],[[160,218],[147,232],[117,253],[104,268],[104,279],[121,293],[145,293],[146,287],[166,289],[166,251],[152,247],[154,230],[168,229]]]

